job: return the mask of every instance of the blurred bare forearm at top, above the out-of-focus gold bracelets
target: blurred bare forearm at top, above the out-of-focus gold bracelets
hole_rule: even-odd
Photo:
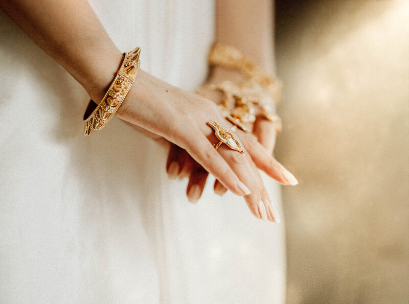
[[[216,41],[235,46],[274,75],[274,1],[217,0]]]

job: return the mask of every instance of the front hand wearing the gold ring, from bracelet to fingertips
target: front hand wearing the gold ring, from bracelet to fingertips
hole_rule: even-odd
[[[232,125],[211,100],[174,87],[141,70],[117,116],[186,150],[226,189],[243,196],[255,217],[270,220],[275,217],[269,212],[268,194],[260,191],[264,187],[260,188],[257,168],[282,183],[287,182],[283,176],[287,170],[254,135],[239,130],[236,134],[244,147],[243,154],[224,144],[216,151],[212,144],[218,143],[218,139],[207,122],[215,120],[227,129]]]

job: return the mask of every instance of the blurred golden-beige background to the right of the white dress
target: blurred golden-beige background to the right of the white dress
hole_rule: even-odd
[[[409,1],[276,2],[288,303],[409,301]]]

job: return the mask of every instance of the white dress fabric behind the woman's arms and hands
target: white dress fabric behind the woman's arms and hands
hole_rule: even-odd
[[[205,80],[212,1],[91,5],[120,50],[141,46],[145,71]],[[285,301],[283,223],[215,195],[213,178],[189,203],[167,151],[118,119],[84,137],[84,89],[3,12],[0,42],[0,302]]]

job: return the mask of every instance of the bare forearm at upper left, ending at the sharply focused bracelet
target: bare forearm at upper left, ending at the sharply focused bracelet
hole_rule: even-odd
[[[92,98],[102,98],[122,54],[86,0],[1,0],[0,8]]]

